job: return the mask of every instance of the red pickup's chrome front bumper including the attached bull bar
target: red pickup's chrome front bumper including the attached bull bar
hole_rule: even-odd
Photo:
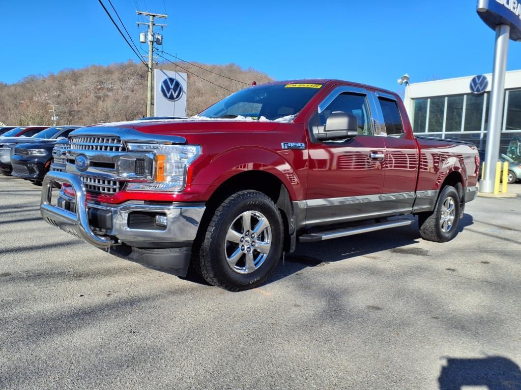
[[[68,183],[74,197],[60,191],[57,205],[53,205],[55,183]],[[118,205],[88,203],[78,176],[51,171],[43,180],[40,211],[49,224],[98,248],[148,267],[170,269],[173,274],[184,276],[205,205],[142,201]],[[155,215],[166,217],[166,227],[150,223]]]

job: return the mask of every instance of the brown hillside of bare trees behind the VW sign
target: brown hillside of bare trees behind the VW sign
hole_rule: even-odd
[[[193,73],[188,73],[187,115],[194,115],[230,94],[201,77],[231,91],[247,87],[246,84],[253,81],[261,84],[271,80],[265,73],[242,69],[235,64],[219,66],[181,62],[179,65]],[[185,72],[171,63],[160,63],[158,67]],[[146,78],[146,67],[129,61],[78,70],[65,69],[45,76],[31,75],[14,84],[0,83],[0,122],[51,125],[49,105],[57,105],[58,124],[63,125],[138,119],[146,114]]]

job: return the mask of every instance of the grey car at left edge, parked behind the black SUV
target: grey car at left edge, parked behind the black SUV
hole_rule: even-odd
[[[27,131],[27,129],[16,137],[3,137],[0,138],[0,173],[5,176],[10,176],[13,171],[11,166],[11,158],[13,157],[14,150],[19,144],[26,144],[29,142],[38,142],[42,139],[54,139],[56,141],[59,137],[67,136],[72,130],[69,130],[70,126],[33,126],[38,127]],[[73,126],[78,128],[78,126]],[[7,133],[6,133],[7,134]]]

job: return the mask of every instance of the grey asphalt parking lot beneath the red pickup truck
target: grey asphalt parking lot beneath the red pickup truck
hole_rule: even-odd
[[[521,196],[468,204],[445,244],[302,244],[242,293],[110,256],[39,200],[0,176],[2,389],[521,389]]]

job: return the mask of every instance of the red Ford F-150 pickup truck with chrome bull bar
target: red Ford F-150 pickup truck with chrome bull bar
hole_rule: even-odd
[[[190,119],[69,136],[42,216],[112,254],[239,291],[297,241],[410,225],[444,242],[477,193],[471,144],[414,137],[401,99],[339,80],[243,89]],[[53,185],[61,184],[57,199]]]

